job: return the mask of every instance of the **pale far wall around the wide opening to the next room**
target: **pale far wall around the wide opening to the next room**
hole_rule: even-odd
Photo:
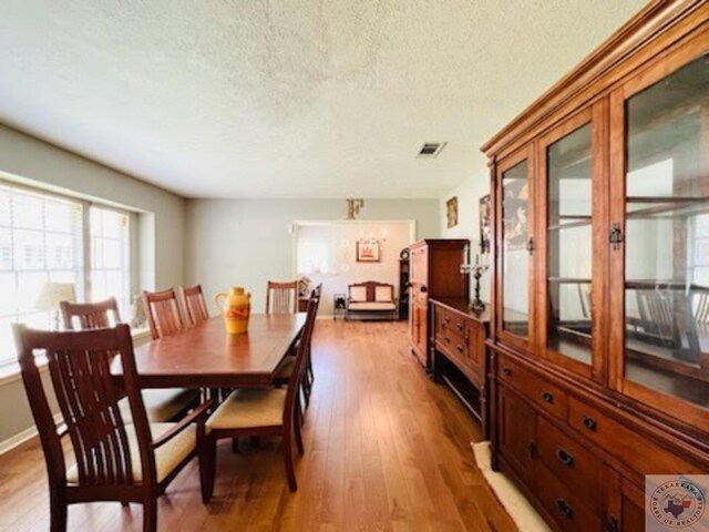
[[[413,219],[417,238],[438,238],[439,211],[438,200],[366,200],[358,218]],[[294,277],[291,224],[345,219],[346,213],[345,200],[189,200],[187,279],[207,296],[244,286],[253,310],[263,313],[266,282]]]

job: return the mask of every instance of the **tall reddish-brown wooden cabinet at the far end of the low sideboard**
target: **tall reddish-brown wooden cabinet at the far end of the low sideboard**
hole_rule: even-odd
[[[464,239],[427,239],[409,247],[409,336],[411,350],[427,371],[433,349],[429,298],[462,298],[470,294],[470,275],[461,274]]]

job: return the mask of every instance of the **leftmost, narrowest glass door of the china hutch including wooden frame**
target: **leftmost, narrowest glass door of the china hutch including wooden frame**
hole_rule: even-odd
[[[501,234],[500,329],[513,345],[531,336],[532,164],[530,151],[504,161],[497,172]]]

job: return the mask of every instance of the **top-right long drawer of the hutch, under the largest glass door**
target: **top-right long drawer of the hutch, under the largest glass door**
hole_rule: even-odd
[[[574,398],[569,401],[568,422],[641,475],[707,472]]]

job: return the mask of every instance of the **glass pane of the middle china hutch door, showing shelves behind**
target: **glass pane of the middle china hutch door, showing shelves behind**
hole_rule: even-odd
[[[547,347],[590,364],[590,124],[546,149]]]

